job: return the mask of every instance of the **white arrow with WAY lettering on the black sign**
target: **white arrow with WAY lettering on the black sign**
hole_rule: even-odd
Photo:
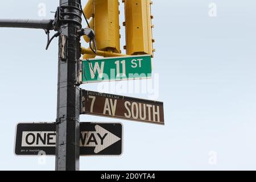
[[[98,154],[98,152],[121,140],[99,125],[96,125],[95,129],[96,131],[81,132],[80,147],[95,147],[94,153]]]

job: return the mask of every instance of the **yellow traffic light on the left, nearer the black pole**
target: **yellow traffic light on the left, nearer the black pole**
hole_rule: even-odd
[[[89,0],[84,8],[84,14],[87,19],[92,17],[89,25],[95,32],[97,49],[121,53],[118,0]],[[86,36],[84,39],[89,42]],[[95,56],[85,55],[84,58]]]

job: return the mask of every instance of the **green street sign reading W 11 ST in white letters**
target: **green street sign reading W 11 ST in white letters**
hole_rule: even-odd
[[[82,83],[151,78],[150,55],[82,61]]]

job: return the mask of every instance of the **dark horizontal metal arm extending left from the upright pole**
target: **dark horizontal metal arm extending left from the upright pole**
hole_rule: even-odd
[[[0,19],[0,27],[7,28],[38,28],[43,30],[53,30],[52,23],[52,19]]]

